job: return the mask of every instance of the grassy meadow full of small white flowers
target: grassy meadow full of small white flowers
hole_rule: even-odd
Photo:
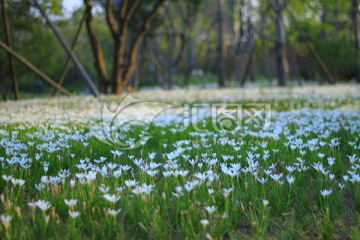
[[[117,129],[151,134],[129,150],[93,130],[122,98],[2,102],[0,238],[360,239],[360,94],[334,88],[164,92],[153,120],[146,104],[119,115],[152,120]],[[268,103],[269,124],[219,131],[204,110],[184,127],[184,103],[212,102]]]

